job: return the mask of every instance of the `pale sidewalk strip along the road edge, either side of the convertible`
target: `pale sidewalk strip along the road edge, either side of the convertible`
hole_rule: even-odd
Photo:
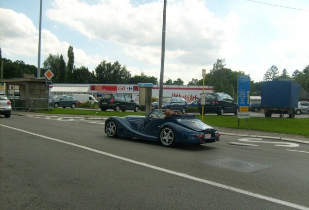
[[[23,111],[12,111],[12,114],[19,116],[39,116],[39,117],[51,117],[51,118],[64,118],[64,119],[85,119],[85,120],[106,120],[108,117],[95,117],[89,115],[63,115],[63,114],[41,114],[41,113],[32,113],[32,112],[23,112]],[[274,139],[274,140],[284,140],[292,141],[297,143],[306,143],[309,144],[309,138],[292,135],[292,134],[282,134],[282,133],[271,133],[255,130],[242,130],[242,129],[233,129],[225,127],[216,127],[220,134],[228,136],[239,136],[247,138],[262,138],[262,139]]]

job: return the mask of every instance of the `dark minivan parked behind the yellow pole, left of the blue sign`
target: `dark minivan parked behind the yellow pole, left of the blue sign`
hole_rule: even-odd
[[[201,99],[198,101],[197,108],[202,114]],[[224,92],[206,93],[205,94],[205,113],[217,113],[217,115],[223,115],[224,113],[234,113],[237,115],[238,105],[234,99]]]

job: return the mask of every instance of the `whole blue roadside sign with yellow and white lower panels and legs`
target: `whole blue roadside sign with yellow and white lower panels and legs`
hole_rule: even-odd
[[[245,75],[238,75],[238,126],[240,119],[250,118],[250,77]]]

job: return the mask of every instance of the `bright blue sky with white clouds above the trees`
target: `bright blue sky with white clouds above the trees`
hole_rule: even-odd
[[[160,79],[163,0],[42,0],[41,67],[49,54],[92,71],[103,61]],[[0,0],[2,57],[38,66],[40,0]],[[263,80],[309,65],[309,0],[167,0],[164,82],[202,79],[217,59]],[[206,84],[207,85],[207,84]]]

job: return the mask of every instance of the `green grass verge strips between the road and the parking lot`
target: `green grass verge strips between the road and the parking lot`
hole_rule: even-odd
[[[39,113],[46,114],[67,114],[67,115],[92,115],[92,116],[119,116],[124,117],[127,115],[140,115],[144,116],[144,112],[115,112],[115,111],[101,111],[101,110],[84,110],[84,109],[71,109],[71,108],[54,108],[50,111],[39,111]],[[196,118],[200,119],[202,116],[196,114]],[[211,126],[245,129],[245,130],[258,130],[265,132],[285,133],[301,135],[309,137],[309,118],[259,118],[251,117],[248,119],[240,119],[240,126],[238,126],[238,118],[232,115],[217,116],[205,115],[204,123]]]

